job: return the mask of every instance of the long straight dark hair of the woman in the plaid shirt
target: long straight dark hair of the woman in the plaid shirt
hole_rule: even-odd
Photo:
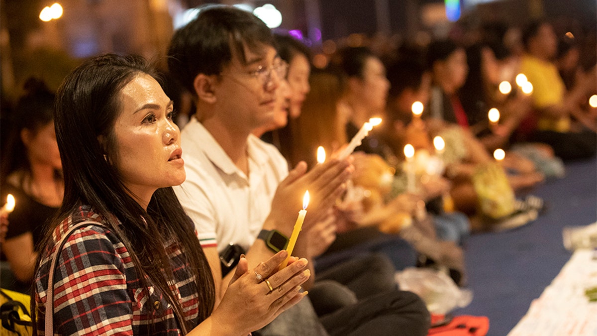
[[[41,246],[53,245],[52,233],[61,221],[79,207],[91,206],[127,246],[142,287],[146,289],[150,283],[155,286],[172,305],[179,323],[187,323],[183,307],[168,285],[173,271],[165,244],[173,240],[184,251],[187,271],[195,277],[198,314],[203,320],[213,310],[215,289],[191,219],[171,187],[155,191],[144,210],[127,192],[112,163],[121,90],[144,74],[156,76],[143,57],[106,54],[79,65],[60,85],[54,120],[63,162],[64,198]],[[153,305],[149,308],[153,309]]]

